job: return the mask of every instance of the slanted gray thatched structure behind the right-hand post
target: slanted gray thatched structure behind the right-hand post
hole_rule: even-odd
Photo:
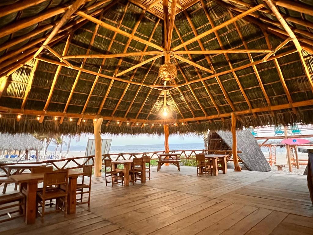
[[[230,131],[216,132],[225,142],[225,144],[232,149],[233,137]],[[259,144],[256,142],[254,136],[247,130],[237,131],[237,149],[242,151],[238,156],[244,161],[243,164],[248,170],[254,171],[270,171],[271,168],[262,153]]]

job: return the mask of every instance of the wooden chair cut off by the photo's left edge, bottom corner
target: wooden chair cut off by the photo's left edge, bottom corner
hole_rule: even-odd
[[[15,210],[8,211],[9,208],[15,207]],[[18,209],[16,208],[18,207]],[[0,211],[5,210],[4,213],[0,214],[0,218],[8,216],[0,220],[0,223],[13,220],[18,217],[25,215],[25,195],[23,193],[13,193],[4,196],[0,196]],[[12,216],[11,214],[17,213],[18,215]]]

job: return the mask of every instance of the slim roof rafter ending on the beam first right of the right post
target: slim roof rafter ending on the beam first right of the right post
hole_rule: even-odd
[[[200,3],[201,3],[201,5],[202,5],[202,7],[203,7],[204,13],[205,13],[205,15],[206,15],[206,17],[207,17],[207,19],[208,19],[208,21],[209,21],[211,27],[212,27],[212,28],[215,27],[214,21],[212,20],[210,14],[208,13],[208,10],[207,10],[206,5],[204,4],[203,0],[201,0]],[[236,21],[234,21],[233,23],[236,23]],[[218,32],[217,32],[217,31],[214,31],[214,34],[215,34],[215,37],[216,37],[216,39],[217,39],[217,41],[218,41],[219,46],[221,47],[222,50],[224,50],[225,48],[224,48],[224,46],[223,46],[223,42],[222,42],[220,36],[218,35]],[[224,57],[225,57],[225,59],[226,59],[226,61],[227,61],[227,63],[228,63],[229,68],[230,68],[230,69],[233,69],[233,65],[231,64],[228,55],[227,55],[226,53],[224,53],[223,55],[224,55]],[[244,100],[245,100],[245,102],[247,103],[248,107],[249,107],[249,108],[252,108],[252,105],[251,105],[251,103],[250,103],[250,101],[249,101],[249,98],[247,97],[246,92],[244,91],[244,88],[243,88],[243,86],[241,85],[237,74],[236,74],[235,72],[232,72],[232,75],[233,75],[233,77],[235,78],[235,80],[236,80],[236,82],[237,82],[237,85],[238,85],[238,87],[239,87],[239,90],[240,90],[241,94],[243,95]],[[223,91],[223,90],[222,90],[222,91]],[[253,116],[254,116],[254,118],[257,118],[255,114],[254,114]]]

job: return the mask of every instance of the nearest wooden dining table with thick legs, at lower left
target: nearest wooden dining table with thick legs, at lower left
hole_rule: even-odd
[[[67,213],[72,214],[76,212],[76,185],[77,177],[83,175],[83,172],[69,170],[69,184],[67,196]],[[10,178],[16,183],[20,184],[20,191],[22,187],[26,188],[26,214],[25,223],[33,224],[36,219],[36,196],[37,185],[39,180],[44,180],[44,173],[29,173],[23,175],[11,175]]]

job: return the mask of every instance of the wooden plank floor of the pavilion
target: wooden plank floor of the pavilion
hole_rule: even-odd
[[[92,181],[91,206],[64,218],[49,214],[34,225],[0,224],[1,234],[75,235],[308,235],[313,208],[306,177],[228,170],[197,177],[194,167],[151,168],[151,180],[129,187]]]

